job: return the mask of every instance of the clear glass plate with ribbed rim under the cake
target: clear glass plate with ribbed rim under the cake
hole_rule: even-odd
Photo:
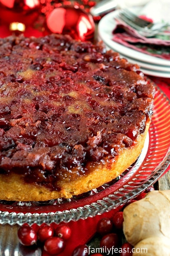
[[[108,184],[79,196],[47,202],[0,201],[0,224],[30,225],[87,219],[126,203],[140,194],[170,164],[170,101],[156,88],[154,115],[144,148],[137,161]]]

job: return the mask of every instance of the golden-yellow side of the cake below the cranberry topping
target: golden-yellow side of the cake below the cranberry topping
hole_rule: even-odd
[[[145,132],[138,135],[130,148],[123,148],[121,153],[113,162],[105,165],[96,165],[90,169],[89,174],[79,177],[73,181],[62,181],[60,191],[50,191],[46,187],[36,184],[27,184],[21,175],[11,173],[10,175],[0,175],[1,200],[14,201],[46,201],[55,198],[70,198],[97,188],[104,183],[111,181],[124,172],[141,153],[144,141],[149,130],[150,121],[147,122]]]

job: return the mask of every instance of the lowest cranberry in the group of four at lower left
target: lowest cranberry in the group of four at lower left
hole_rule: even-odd
[[[65,242],[58,236],[49,237],[44,244],[44,250],[50,255],[57,255],[65,248]]]

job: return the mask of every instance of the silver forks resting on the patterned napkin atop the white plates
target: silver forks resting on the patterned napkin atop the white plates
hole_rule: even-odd
[[[128,9],[122,9],[117,18],[138,30],[139,34],[145,37],[153,37],[159,32],[164,31],[170,25],[168,23],[151,23],[145,21]]]

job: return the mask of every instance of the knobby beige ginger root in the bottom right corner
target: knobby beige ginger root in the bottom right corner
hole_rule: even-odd
[[[151,191],[123,211],[123,231],[133,256],[170,256],[170,190]]]

